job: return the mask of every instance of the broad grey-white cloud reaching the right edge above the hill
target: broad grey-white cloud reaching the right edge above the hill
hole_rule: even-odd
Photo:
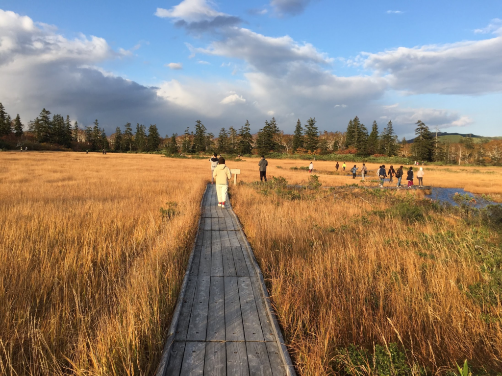
[[[502,36],[362,55],[366,69],[386,75],[393,88],[411,94],[502,91]]]

